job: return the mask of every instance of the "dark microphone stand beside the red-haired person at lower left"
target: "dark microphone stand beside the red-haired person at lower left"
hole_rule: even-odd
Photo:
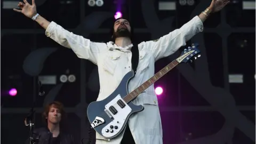
[[[41,93],[40,92],[40,88],[42,87],[42,84],[40,81],[38,81],[39,83],[39,90],[38,90],[38,96],[42,96],[44,95],[44,92]],[[29,144],[35,144],[36,142],[38,142],[39,137],[37,137],[36,139],[33,138],[33,126],[34,126],[34,114],[35,114],[35,110],[34,107],[36,105],[37,102],[37,98],[36,100],[33,102],[32,108],[29,111],[29,114],[27,115],[27,118],[25,119],[25,125],[29,126]]]

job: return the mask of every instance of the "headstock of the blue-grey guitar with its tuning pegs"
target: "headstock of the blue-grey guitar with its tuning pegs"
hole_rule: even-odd
[[[179,63],[181,62],[193,62],[193,59],[196,60],[196,58],[201,57],[199,55],[200,51],[197,49],[198,44],[192,44],[191,46],[187,47],[187,49],[184,49],[182,53],[180,54],[180,57],[176,59]]]

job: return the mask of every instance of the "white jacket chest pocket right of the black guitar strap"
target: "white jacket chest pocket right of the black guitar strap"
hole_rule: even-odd
[[[149,61],[147,60],[147,53],[145,51],[140,51],[138,72],[143,73],[149,67]]]

